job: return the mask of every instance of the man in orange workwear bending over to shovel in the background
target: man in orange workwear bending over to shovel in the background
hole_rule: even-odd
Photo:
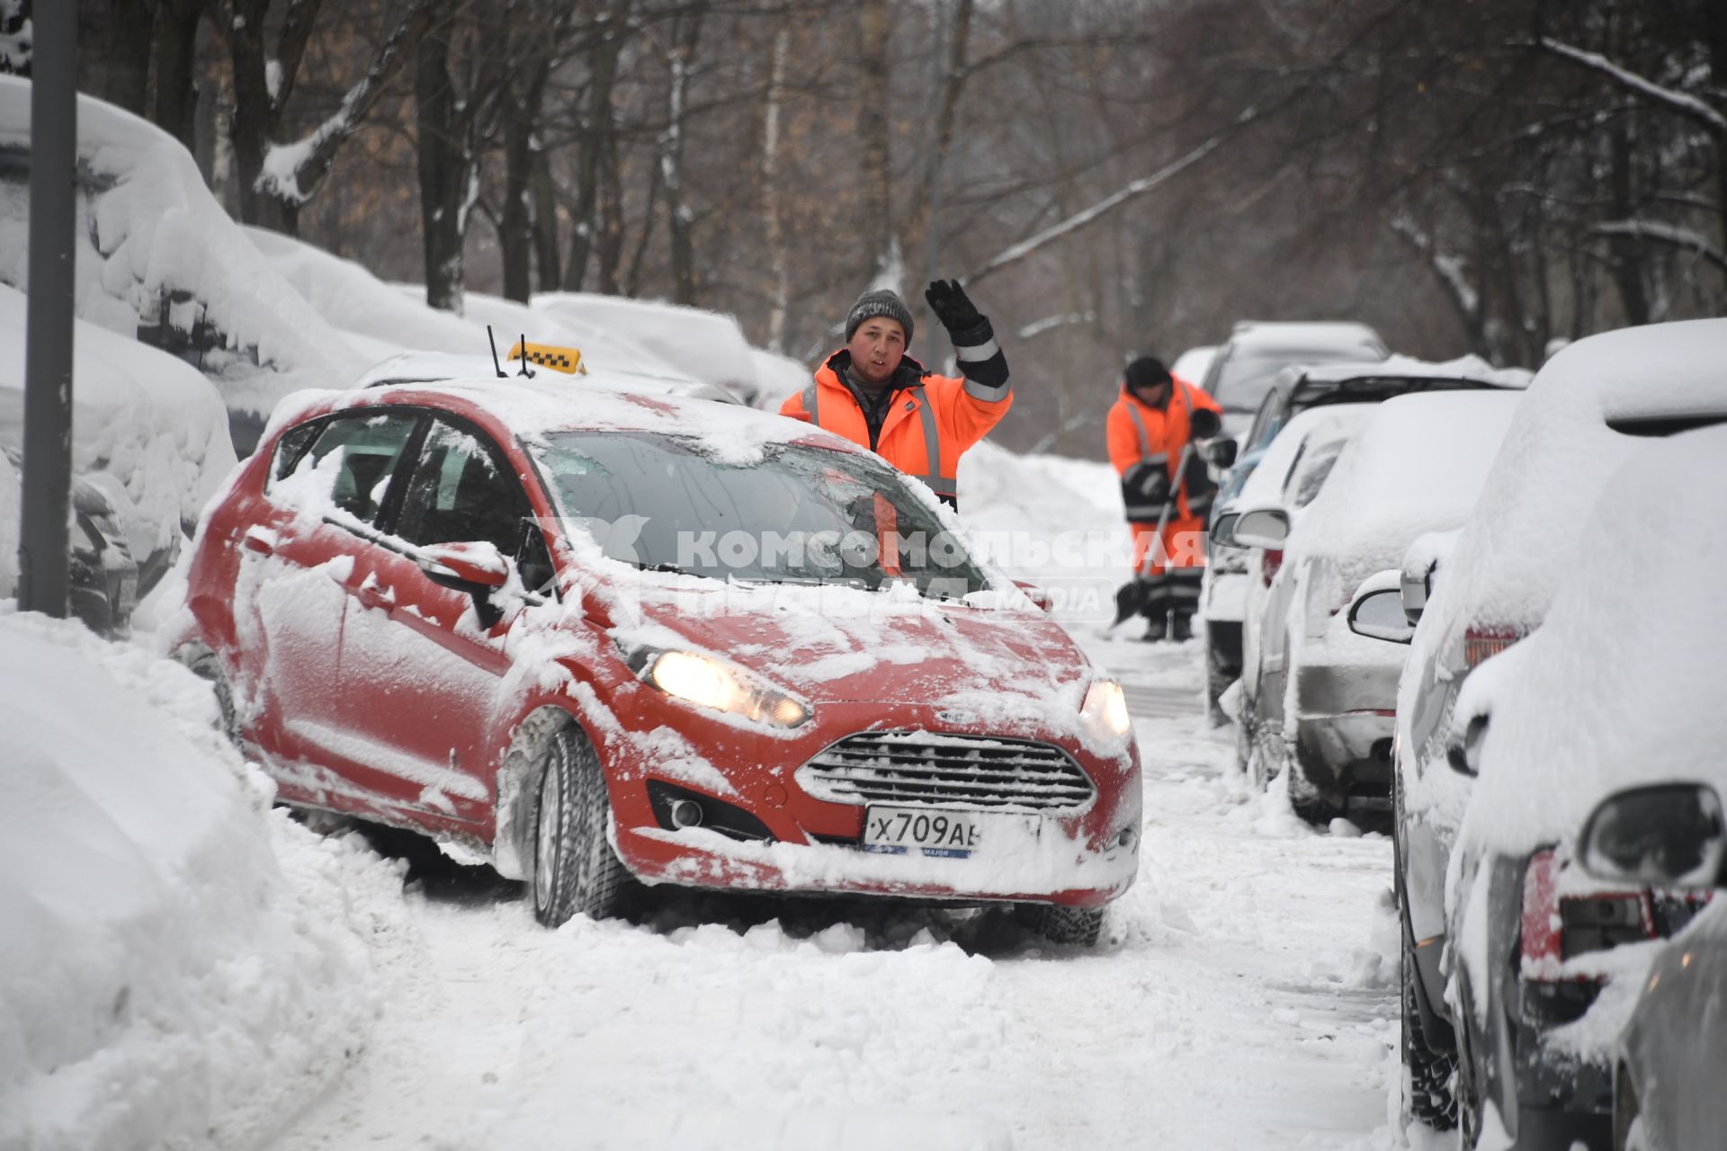
[[[1109,462],[1121,475],[1121,500],[1133,530],[1133,578],[1143,582],[1140,611],[1148,620],[1148,640],[1193,635],[1205,569],[1205,516],[1218,487],[1197,450],[1181,464],[1181,447],[1218,435],[1221,411],[1218,400],[1176,380],[1148,355],[1128,364],[1121,395],[1109,409]],[[1159,519],[1164,519],[1162,538]]]

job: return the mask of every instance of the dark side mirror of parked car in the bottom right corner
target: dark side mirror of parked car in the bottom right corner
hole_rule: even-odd
[[[1608,796],[1577,842],[1578,861],[1596,878],[1656,887],[1727,882],[1722,801],[1703,783],[1654,783]]]

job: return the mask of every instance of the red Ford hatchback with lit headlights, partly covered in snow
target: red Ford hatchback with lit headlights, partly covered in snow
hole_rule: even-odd
[[[180,657],[280,799],[528,880],[1029,904],[1138,868],[1121,689],[917,481],[627,381],[297,397],[206,516]]]

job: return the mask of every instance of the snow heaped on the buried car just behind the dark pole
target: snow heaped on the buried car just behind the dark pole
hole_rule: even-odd
[[[26,305],[0,285],[0,454],[24,447]],[[109,497],[131,554],[143,561],[174,545],[233,468],[228,414],[214,385],[173,355],[85,321],[73,338],[73,471]],[[17,481],[16,471],[0,469],[0,513],[12,509],[14,530]],[[9,594],[17,556],[16,542],[3,544],[0,594]]]

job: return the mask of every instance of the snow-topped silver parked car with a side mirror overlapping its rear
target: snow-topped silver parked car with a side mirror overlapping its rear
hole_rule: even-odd
[[[1342,611],[1416,537],[1468,518],[1520,400],[1518,392],[1385,400],[1338,452],[1299,521],[1281,504],[1240,506],[1235,540],[1283,549],[1257,606],[1240,723],[1256,778],[1288,770],[1290,804],[1302,818],[1389,813],[1404,647],[1357,635]]]

